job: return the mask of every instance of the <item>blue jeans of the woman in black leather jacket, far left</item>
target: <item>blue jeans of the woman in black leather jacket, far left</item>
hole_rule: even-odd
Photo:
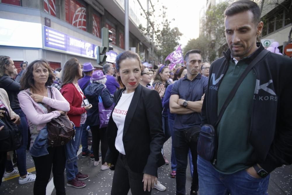
[[[22,145],[19,149],[16,150],[17,154],[17,167],[20,176],[24,176],[27,174],[26,170],[26,146],[28,139],[28,124],[25,118],[25,114],[22,112],[21,108],[13,109],[13,111],[19,115],[20,117],[20,125],[18,125],[19,131],[22,136]],[[10,172],[13,170],[13,165],[11,161],[6,161],[6,172]]]

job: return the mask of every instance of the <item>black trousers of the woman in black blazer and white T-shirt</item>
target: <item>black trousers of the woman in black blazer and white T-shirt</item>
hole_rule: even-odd
[[[144,191],[143,175],[131,171],[126,156],[120,153],[114,168],[111,195],[127,195],[130,188],[133,195],[150,195],[152,188],[150,192]]]

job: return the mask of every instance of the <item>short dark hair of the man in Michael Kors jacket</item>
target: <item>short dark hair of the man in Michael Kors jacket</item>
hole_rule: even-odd
[[[256,2],[250,0],[235,1],[225,9],[224,15],[225,17],[232,16],[237,13],[242,13],[244,11],[251,11],[251,13],[253,13],[253,23],[255,23],[255,25],[258,25],[258,23],[260,22],[260,7],[258,6],[258,4],[256,4]]]

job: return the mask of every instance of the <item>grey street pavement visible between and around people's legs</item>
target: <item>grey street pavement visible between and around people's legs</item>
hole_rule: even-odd
[[[111,186],[112,186],[112,177],[114,175],[114,171],[111,170],[100,170],[100,165],[94,166],[93,161],[90,160],[90,157],[82,158],[81,157],[81,149],[79,150],[79,160],[78,160],[78,168],[84,174],[90,175],[86,182],[86,187],[81,189],[76,189],[72,187],[66,187],[67,195],[110,195]],[[170,161],[171,156],[171,139],[169,139],[164,144],[164,155]],[[34,163],[27,152],[27,168],[35,173]],[[166,186],[166,191],[158,191],[156,189],[152,190],[152,194],[159,195],[174,195],[175,194],[175,178],[169,177],[171,172],[171,165],[163,165],[158,169],[158,180]],[[65,173],[64,173],[65,174]],[[52,174],[51,174],[52,177]],[[65,182],[66,175],[65,175]],[[187,181],[186,181],[186,192],[190,193],[192,178],[190,176],[189,166],[187,168]],[[30,195],[33,194],[33,185],[34,182],[27,184],[18,184],[18,177],[9,178],[9,180],[2,182],[0,187],[0,194],[25,194]],[[47,194],[51,195],[55,194],[55,190],[53,187],[53,180],[50,179],[50,182],[47,186]],[[268,194],[278,195],[278,194],[292,194],[292,165],[283,166],[281,168],[277,168],[270,175],[270,182],[268,188]],[[131,191],[128,195],[131,195]]]

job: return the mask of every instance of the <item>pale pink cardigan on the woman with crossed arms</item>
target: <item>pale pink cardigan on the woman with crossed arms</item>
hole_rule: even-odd
[[[57,110],[68,112],[70,110],[70,106],[67,100],[62,96],[57,88],[51,87],[51,89],[53,93],[52,98],[44,97],[42,103],[45,103]],[[47,122],[50,122],[53,118],[60,116],[60,112],[53,111],[45,114],[39,104],[36,103],[27,92],[29,92],[29,89],[25,89],[18,94],[20,107],[27,117],[28,125],[37,125],[37,130],[40,131],[46,126]]]

